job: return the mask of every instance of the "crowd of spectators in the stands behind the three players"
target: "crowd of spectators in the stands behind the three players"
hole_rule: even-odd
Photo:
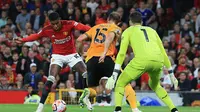
[[[199,0],[0,0],[0,104],[23,103],[25,98],[30,97],[32,90],[37,90],[41,95],[48,76],[50,40],[43,38],[17,45],[13,39],[17,36],[25,38],[48,25],[49,10],[58,12],[61,19],[75,20],[90,26],[105,23],[107,16],[117,11],[122,16],[120,26],[125,30],[129,14],[140,9],[146,10],[143,13],[144,25],[154,28],[160,35],[179,79],[179,88],[174,90],[164,68],[162,86],[170,92],[177,105],[200,105],[194,102],[200,100]],[[81,33],[74,31],[76,38]],[[90,41],[76,43],[77,51],[83,58],[89,44]],[[118,43],[116,48],[119,46]],[[124,66],[133,57],[132,51],[128,50]],[[76,104],[80,93],[74,90],[82,89],[80,75],[65,67],[56,78],[59,81],[54,84],[53,96],[49,97],[48,103],[62,97],[67,103]],[[143,74],[131,85],[137,91],[138,100],[145,96],[156,99],[148,87],[148,74]],[[58,89],[68,91],[59,93]],[[94,100],[110,102],[104,93]]]

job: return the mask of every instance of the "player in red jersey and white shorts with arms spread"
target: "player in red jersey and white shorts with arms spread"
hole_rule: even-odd
[[[42,112],[46,98],[51,90],[55,77],[59,74],[63,64],[69,65],[77,72],[86,76],[87,69],[82,58],[76,52],[72,30],[88,31],[89,26],[71,20],[60,20],[59,14],[52,12],[49,14],[50,25],[45,26],[37,34],[32,34],[26,38],[17,38],[17,43],[38,40],[42,37],[49,37],[52,42],[53,52],[49,70],[49,76],[42,92],[40,104],[36,112]]]

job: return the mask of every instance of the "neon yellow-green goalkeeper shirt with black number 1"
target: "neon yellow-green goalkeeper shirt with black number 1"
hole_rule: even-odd
[[[134,59],[158,61],[164,63],[167,68],[171,67],[162,41],[152,28],[141,25],[127,28],[122,33],[116,64],[122,65],[129,45],[133,49]]]

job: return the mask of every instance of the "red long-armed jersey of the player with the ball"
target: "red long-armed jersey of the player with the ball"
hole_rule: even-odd
[[[76,53],[72,30],[76,29],[88,31],[90,27],[71,20],[61,20],[61,24],[62,28],[59,31],[54,31],[51,25],[47,25],[37,34],[32,34],[26,38],[23,38],[22,41],[34,41],[40,39],[41,37],[48,37],[52,42],[53,54],[69,55]]]

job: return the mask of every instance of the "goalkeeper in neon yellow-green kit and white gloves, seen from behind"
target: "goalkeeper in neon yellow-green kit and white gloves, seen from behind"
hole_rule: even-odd
[[[106,83],[107,89],[114,88],[116,77],[126,56],[127,48],[130,45],[135,57],[126,66],[117,80],[115,87],[115,112],[121,112],[125,86],[145,72],[149,73],[149,86],[151,89],[169,107],[171,112],[178,112],[167,92],[160,85],[160,74],[163,66],[168,68],[174,87],[178,85],[162,41],[155,30],[150,27],[141,26],[142,17],[140,13],[132,13],[129,24],[131,26],[122,34],[120,51],[117,55],[113,75]]]

